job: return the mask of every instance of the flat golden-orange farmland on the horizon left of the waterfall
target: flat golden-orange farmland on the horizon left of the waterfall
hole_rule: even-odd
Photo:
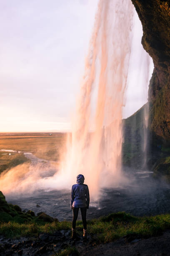
[[[32,151],[39,158],[58,161],[66,133],[0,133],[0,149]],[[0,151],[0,172],[29,161],[22,153]]]

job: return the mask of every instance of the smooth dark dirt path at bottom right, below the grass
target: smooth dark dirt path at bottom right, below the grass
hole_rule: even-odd
[[[86,246],[79,249],[80,255],[88,256],[170,256],[170,230],[162,236],[132,241],[127,243],[126,238],[121,240],[101,244],[98,246]]]

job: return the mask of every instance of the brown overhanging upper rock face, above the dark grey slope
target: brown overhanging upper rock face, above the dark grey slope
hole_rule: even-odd
[[[142,44],[154,63],[150,131],[170,144],[170,1],[132,0],[143,26]]]

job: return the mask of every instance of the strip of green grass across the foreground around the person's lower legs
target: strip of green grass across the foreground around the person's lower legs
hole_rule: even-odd
[[[170,214],[150,217],[134,217],[125,212],[117,212],[106,217],[87,221],[87,233],[94,243],[107,243],[124,236],[148,238],[158,236],[170,228]],[[55,230],[71,229],[70,221],[53,223],[1,223],[0,235],[14,238],[19,236],[38,236],[40,233],[53,233]],[[82,221],[77,221],[77,233],[82,234]],[[63,254],[65,255],[65,254]]]

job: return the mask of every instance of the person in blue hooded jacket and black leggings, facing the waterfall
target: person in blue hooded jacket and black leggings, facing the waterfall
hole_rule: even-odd
[[[73,212],[72,218],[72,238],[76,237],[75,225],[78,217],[78,210],[80,208],[83,223],[83,238],[87,237],[87,222],[86,211],[89,208],[89,189],[83,184],[85,177],[82,174],[77,176],[77,184],[74,184],[71,189],[71,208]]]

